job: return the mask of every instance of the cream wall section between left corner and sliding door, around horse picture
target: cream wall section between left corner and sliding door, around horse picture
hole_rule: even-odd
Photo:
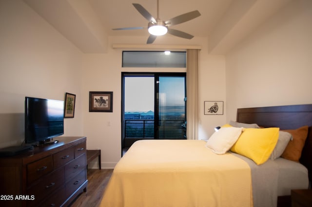
[[[88,149],[101,149],[102,167],[121,157],[121,54],[85,54],[83,58],[83,131]],[[89,112],[89,91],[113,91],[113,112]],[[109,124],[109,122],[111,124]]]

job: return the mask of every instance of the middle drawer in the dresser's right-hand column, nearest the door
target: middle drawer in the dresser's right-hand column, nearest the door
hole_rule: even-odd
[[[70,180],[86,168],[86,155],[81,155],[65,166],[65,179]]]

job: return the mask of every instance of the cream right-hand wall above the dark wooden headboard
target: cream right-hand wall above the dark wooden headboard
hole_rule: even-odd
[[[226,55],[227,121],[236,108],[312,104],[312,1],[294,0]]]

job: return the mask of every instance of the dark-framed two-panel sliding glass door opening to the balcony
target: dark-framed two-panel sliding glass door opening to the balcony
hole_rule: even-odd
[[[122,147],[139,139],[184,139],[185,73],[122,73]]]

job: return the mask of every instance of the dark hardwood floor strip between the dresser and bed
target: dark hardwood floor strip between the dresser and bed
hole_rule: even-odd
[[[112,173],[113,169],[88,169],[87,192],[81,193],[71,207],[98,207]]]

